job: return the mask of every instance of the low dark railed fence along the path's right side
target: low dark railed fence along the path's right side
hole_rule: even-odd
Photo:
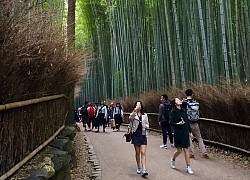
[[[124,113],[125,123],[128,123],[130,113]],[[150,130],[160,132],[157,113],[147,113]],[[250,126],[200,118],[200,130],[205,142],[221,145],[250,154]]]

